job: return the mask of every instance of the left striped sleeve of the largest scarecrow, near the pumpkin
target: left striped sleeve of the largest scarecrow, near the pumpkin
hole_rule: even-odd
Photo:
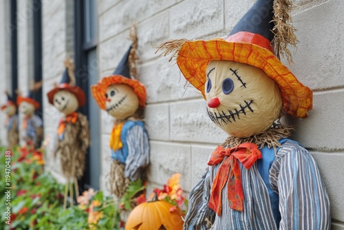
[[[210,229],[215,220],[215,212],[208,208],[211,191],[210,167],[189,194],[189,211],[184,221],[184,230]]]

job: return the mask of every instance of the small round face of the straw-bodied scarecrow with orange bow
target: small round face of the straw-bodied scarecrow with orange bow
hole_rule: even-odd
[[[67,90],[60,90],[54,94],[54,106],[63,114],[72,114],[79,107],[78,99]]]

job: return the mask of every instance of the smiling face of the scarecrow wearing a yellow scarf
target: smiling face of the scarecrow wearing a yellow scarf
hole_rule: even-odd
[[[138,96],[129,85],[110,85],[107,87],[105,98],[107,112],[117,119],[125,119],[138,110]]]

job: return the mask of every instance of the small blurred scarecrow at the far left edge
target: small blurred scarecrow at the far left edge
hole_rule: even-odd
[[[8,148],[12,149],[12,147],[19,144],[19,123],[17,115],[17,104],[8,92],[6,92],[6,95],[7,102],[6,104],[1,106],[1,110],[4,110],[7,114],[5,126],[7,130]]]

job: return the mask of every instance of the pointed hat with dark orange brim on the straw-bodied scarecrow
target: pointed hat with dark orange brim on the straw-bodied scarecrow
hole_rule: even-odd
[[[65,61],[65,65],[66,65],[66,69],[65,69],[65,72],[63,72],[61,82],[58,85],[56,85],[56,87],[54,87],[53,90],[50,90],[50,92],[47,93],[48,101],[50,104],[54,105],[54,94],[56,94],[56,92],[59,92],[61,90],[66,90],[76,96],[76,98],[78,99],[79,107],[81,107],[85,105],[85,102],[86,102],[85,93],[80,87],[78,87],[77,85],[74,85],[75,79],[74,79],[74,73],[73,73],[74,71],[73,63],[69,59],[67,59]]]

